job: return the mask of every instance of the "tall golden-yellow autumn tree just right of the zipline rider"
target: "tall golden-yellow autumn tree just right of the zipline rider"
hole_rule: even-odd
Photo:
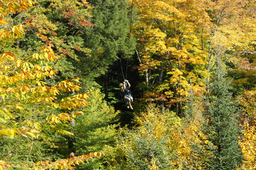
[[[190,83],[203,87],[205,76],[200,26],[209,21],[195,1],[135,1],[140,14],[134,26],[138,38],[138,67],[146,78],[147,101],[165,102],[183,115],[183,102]],[[153,10],[154,9],[154,10]],[[205,16],[203,19],[202,17]],[[173,108],[174,109],[174,108]]]

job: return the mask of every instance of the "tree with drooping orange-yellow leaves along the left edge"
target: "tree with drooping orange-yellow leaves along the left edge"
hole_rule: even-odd
[[[1,167],[72,169],[73,165],[98,154],[72,154],[70,159],[52,161],[38,151],[42,145],[50,144],[51,134],[73,135],[63,127],[69,127],[74,117],[83,114],[76,108],[87,105],[88,95],[78,92],[79,78],[51,85],[47,83],[47,80],[54,80],[57,74],[52,65],[63,57],[54,52],[54,45],[50,41],[44,43],[37,39],[34,47],[33,44],[26,46],[27,51],[19,48],[19,42],[27,31],[35,27],[25,19],[30,18],[28,10],[33,4],[30,0],[0,4]],[[78,94],[70,95],[74,91]]]

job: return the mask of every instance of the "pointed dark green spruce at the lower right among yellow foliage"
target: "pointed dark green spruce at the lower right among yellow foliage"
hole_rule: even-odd
[[[238,139],[238,106],[229,91],[231,82],[225,78],[224,64],[217,58],[216,65],[205,97],[202,128],[197,132],[200,142],[191,143],[192,161],[188,168],[231,170],[239,167],[243,159]]]

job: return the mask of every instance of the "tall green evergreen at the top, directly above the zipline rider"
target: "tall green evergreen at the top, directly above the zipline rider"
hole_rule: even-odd
[[[129,3],[126,0],[87,2],[94,7],[89,18],[94,26],[84,32],[84,46],[92,50],[92,56],[98,59],[98,67],[103,70],[116,61],[119,54],[128,54],[135,49],[135,39],[129,35]]]

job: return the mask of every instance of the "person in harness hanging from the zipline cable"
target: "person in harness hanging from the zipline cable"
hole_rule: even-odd
[[[127,84],[127,87],[126,87]],[[131,105],[131,103],[133,102],[133,96],[132,96],[132,92],[130,90],[131,84],[129,83],[128,80],[124,80],[123,83],[119,84],[120,87],[120,91],[121,94],[123,96],[123,100],[124,102],[128,105],[127,108],[133,110],[133,107]]]

